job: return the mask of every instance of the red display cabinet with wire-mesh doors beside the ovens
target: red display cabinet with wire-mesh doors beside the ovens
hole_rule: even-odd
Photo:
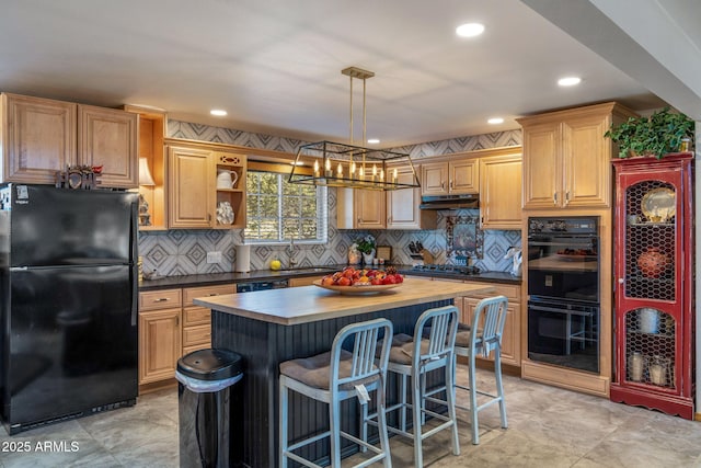
[[[692,155],[613,161],[611,400],[693,419]]]

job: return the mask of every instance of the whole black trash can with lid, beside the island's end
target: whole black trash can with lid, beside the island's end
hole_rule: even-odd
[[[243,377],[242,367],[243,357],[228,350],[194,351],[177,361],[181,467],[229,468],[230,387]]]

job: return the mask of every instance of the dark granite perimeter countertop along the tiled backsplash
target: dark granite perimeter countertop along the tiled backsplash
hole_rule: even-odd
[[[324,269],[329,269],[329,273],[343,270],[346,265],[323,265]],[[476,282],[489,283],[504,283],[504,284],[521,284],[521,277],[512,276],[507,272],[482,272],[476,275],[451,275],[451,274],[427,274],[425,272],[412,271],[411,265],[394,265],[397,270],[402,274],[410,274],[413,276],[432,276],[446,279],[469,279]],[[286,279],[291,277],[304,277],[304,276],[323,276],[323,271],[312,271],[312,267],[298,270],[256,270],[250,273],[206,273],[198,275],[182,275],[182,276],[165,276],[159,279],[142,281],[139,283],[139,290],[154,290],[154,289],[169,289],[177,287],[193,287],[193,286],[211,286],[217,284],[230,284],[230,283],[248,283],[254,281],[276,281]]]

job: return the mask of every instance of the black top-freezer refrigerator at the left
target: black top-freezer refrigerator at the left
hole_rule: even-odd
[[[0,186],[0,408],[10,434],[136,403],[137,197]]]

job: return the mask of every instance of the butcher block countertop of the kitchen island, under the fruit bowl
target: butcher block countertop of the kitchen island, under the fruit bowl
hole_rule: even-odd
[[[318,286],[302,286],[199,297],[194,303],[220,312],[294,326],[493,290],[489,284],[475,283],[440,283],[436,287],[433,281],[412,277],[393,289],[372,295],[342,295]]]

